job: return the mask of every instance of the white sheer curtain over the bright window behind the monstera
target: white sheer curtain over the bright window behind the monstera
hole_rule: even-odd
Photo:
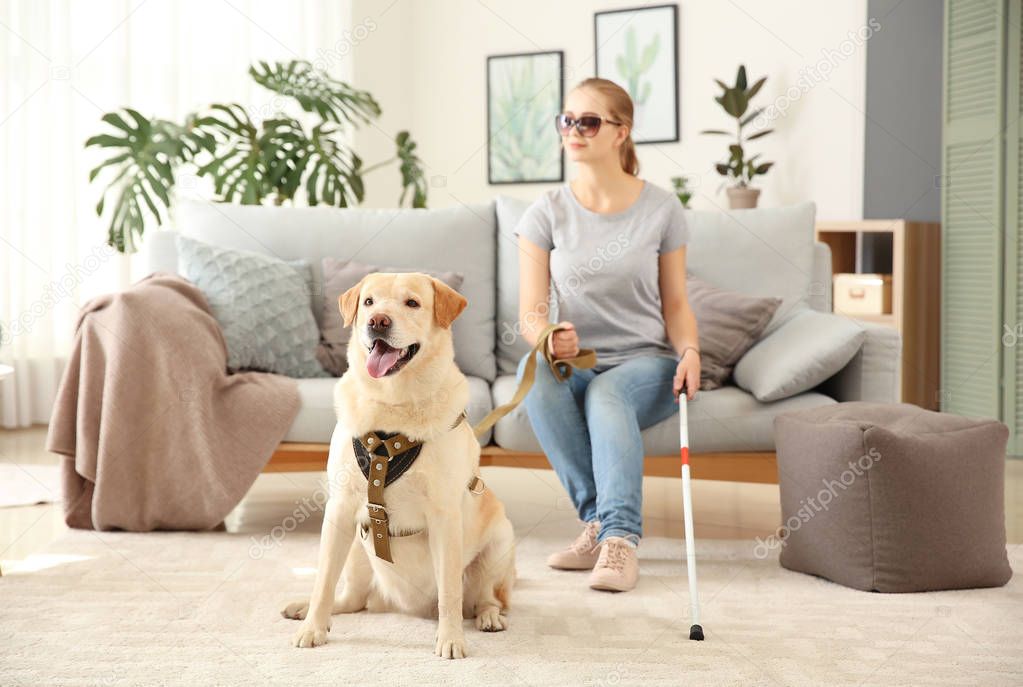
[[[7,0],[0,3],[0,426],[47,422],[78,309],[138,276],[95,215],[105,111],[180,121],[212,102],[253,113],[272,94],[247,71],[308,59],[350,79],[351,6],[335,0]]]

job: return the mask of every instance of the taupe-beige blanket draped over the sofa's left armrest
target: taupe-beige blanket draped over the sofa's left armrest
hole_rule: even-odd
[[[90,301],[76,329],[47,438],[65,456],[68,524],[220,524],[298,414],[295,381],[228,375],[206,297],[177,275]]]

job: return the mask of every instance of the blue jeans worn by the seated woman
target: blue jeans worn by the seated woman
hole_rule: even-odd
[[[530,354],[519,361],[518,378]],[[596,372],[574,369],[560,382],[536,354],[536,380],[524,404],[533,432],[597,541],[642,535],[640,429],[678,412],[671,385],[677,361],[641,356]]]

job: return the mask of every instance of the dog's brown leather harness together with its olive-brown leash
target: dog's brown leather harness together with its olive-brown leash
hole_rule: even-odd
[[[533,350],[529,352],[529,359],[523,370],[519,388],[516,390],[511,400],[494,408],[486,417],[473,427],[477,438],[480,438],[492,427],[497,420],[507,415],[511,410],[522,403],[529,393],[536,374],[536,353],[542,351],[550,371],[558,381],[565,381],[572,376],[572,368],[589,368],[596,364],[596,354],[590,349],[579,349],[579,353],[572,358],[555,359],[547,347],[547,339],[559,329],[563,329],[557,323],[547,324],[537,336]],[[458,426],[462,420],[468,420],[465,411],[461,411],[450,429]],[[403,475],[422,449],[420,440],[412,440],[400,431],[381,431],[371,429],[361,437],[353,437],[352,445],[355,447],[355,457],[359,462],[359,468],[366,477],[366,509],[369,511],[369,528],[362,525],[362,538],[366,538],[366,533],[371,533],[373,538],[373,551],[377,558],[383,558],[388,562],[391,559],[391,537],[408,537],[417,535],[422,530],[401,530],[391,532],[388,526],[387,508],[384,505],[384,488],[392,484],[395,479]],[[475,474],[469,480],[466,488],[474,495],[479,496],[487,486]]]

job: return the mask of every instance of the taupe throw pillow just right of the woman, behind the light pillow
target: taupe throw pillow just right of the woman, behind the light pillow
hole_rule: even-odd
[[[688,275],[685,291],[700,338],[700,388],[718,388],[763,333],[781,299],[744,295]]]

